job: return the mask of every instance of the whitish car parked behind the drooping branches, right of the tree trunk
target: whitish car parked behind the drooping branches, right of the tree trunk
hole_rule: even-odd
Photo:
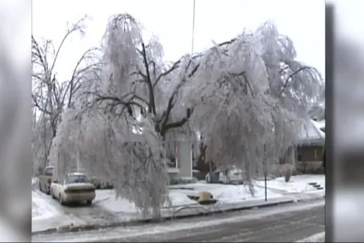
[[[213,172],[208,172],[205,179],[207,183],[241,184],[244,182],[244,172],[236,166],[220,166]]]

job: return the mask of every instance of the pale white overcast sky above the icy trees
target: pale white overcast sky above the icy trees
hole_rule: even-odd
[[[37,40],[54,40],[57,47],[66,33],[67,22],[85,14],[92,17],[86,36],[75,37],[64,45],[56,64],[58,77],[70,73],[89,47],[100,43],[107,20],[116,13],[130,13],[148,31],[158,36],[165,59],[176,60],[191,52],[192,0],[33,0],[33,35]],[[325,1],[324,0],[196,0],[194,51],[210,47],[211,41],[234,38],[244,28],[255,30],[266,20],[273,20],[282,34],[296,46],[298,59],[325,73]]]

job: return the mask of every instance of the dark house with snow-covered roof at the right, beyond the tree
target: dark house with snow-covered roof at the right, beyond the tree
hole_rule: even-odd
[[[323,122],[308,120],[303,124],[296,146],[296,168],[303,173],[324,172],[322,156],[325,145]]]

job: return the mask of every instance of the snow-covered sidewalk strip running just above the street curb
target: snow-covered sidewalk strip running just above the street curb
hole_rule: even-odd
[[[324,193],[323,193],[324,194]],[[232,203],[216,203],[215,205],[186,205],[185,207],[174,207],[172,209],[162,209],[162,221],[168,221],[172,219],[184,219],[193,216],[203,216],[218,214],[224,212],[233,212],[244,209],[253,209],[259,207],[272,207],[275,205],[283,205],[294,202],[304,202],[310,200],[322,200],[324,195],[314,194],[301,194],[292,193],[289,195],[282,196],[280,198],[270,198],[267,201],[261,200],[246,200],[243,202],[232,202]],[[130,215],[130,220],[123,220],[118,222],[110,223],[93,223],[84,224],[81,226],[68,226],[64,228],[50,228],[47,230],[33,232],[32,235],[47,234],[47,233],[66,233],[66,232],[76,232],[82,230],[98,230],[103,228],[113,228],[118,226],[137,226],[143,223],[152,222],[151,219],[142,219],[140,214]]]

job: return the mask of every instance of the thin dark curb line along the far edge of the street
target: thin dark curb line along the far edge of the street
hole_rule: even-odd
[[[291,204],[294,202],[310,202],[313,200],[322,200],[325,198],[324,196],[319,197],[312,197],[312,198],[302,198],[298,200],[289,199],[289,200],[282,200],[280,202],[264,202],[261,205],[248,205],[248,206],[241,206],[241,207],[233,207],[227,209],[219,209],[216,211],[207,211],[207,212],[192,212],[189,214],[182,214],[182,215],[175,215],[175,216],[164,216],[161,220],[156,219],[139,219],[139,220],[132,220],[132,221],[123,221],[123,222],[114,222],[114,223],[105,223],[105,224],[88,224],[84,226],[63,226],[60,228],[50,228],[47,230],[40,230],[36,232],[32,232],[31,235],[48,235],[52,233],[72,233],[77,231],[89,231],[89,230],[102,230],[105,228],[116,228],[116,227],[127,227],[127,226],[139,226],[145,223],[162,223],[165,221],[172,221],[175,219],[188,219],[197,216],[208,216],[212,214],[222,214],[227,212],[236,212],[236,211],[243,211],[248,209],[257,209],[257,208],[264,208],[264,207],[273,207],[277,205],[285,205]]]

